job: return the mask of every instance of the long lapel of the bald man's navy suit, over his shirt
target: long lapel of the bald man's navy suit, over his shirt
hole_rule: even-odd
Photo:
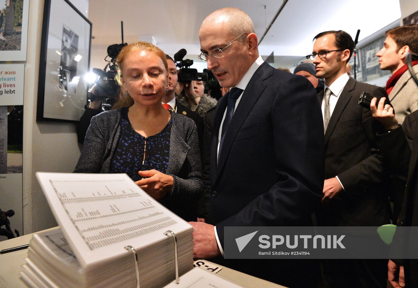
[[[250,82],[248,82],[248,85],[245,88],[244,93],[242,94],[240,103],[237,106],[237,110],[234,112],[231,122],[229,123],[228,130],[225,134],[214,182],[216,182],[217,178],[219,177],[219,173],[221,172],[222,167],[225,164],[225,161],[229,154],[229,150],[231,149],[232,143],[234,142],[235,137],[240,131],[242,124],[244,123],[245,119],[247,119],[248,114],[250,113],[255,103],[257,102],[258,98],[260,97],[261,93],[263,93],[263,90],[266,87],[266,84],[263,82],[263,80],[265,80],[267,77],[273,74],[273,69],[274,69],[273,67],[271,67],[269,64],[264,62],[257,69],[254,75],[252,75]],[[215,121],[219,120],[217,118],[221,118],[221,121],[222,121],[224,109],[221,109],[221,111],[222,111],[221,115],[218,115],[218,111],[217,111],[217,116],[215,117]],[[220,126],[220,121],[219,121],[219,126]],[[219,131],[219,126],[217,126],[218,131]]]

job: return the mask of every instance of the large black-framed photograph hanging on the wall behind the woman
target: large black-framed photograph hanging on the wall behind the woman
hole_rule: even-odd
[[[79,121],[87,100],[92,23],[67,0],[46,0],[37,121]]]

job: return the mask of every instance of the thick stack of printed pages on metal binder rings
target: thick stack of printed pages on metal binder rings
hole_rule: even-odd
[[[30,287],[162,287],[193,268],[193,228],[126,174],[36,173],[60,229],[33,236]]]

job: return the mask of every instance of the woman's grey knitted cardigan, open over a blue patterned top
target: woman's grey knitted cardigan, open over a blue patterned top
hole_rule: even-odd
[[[75,173],[109,173],[120,139],[122,109],[105,111],[92,118]],[[178,113],[171,113],[171,118],[170,154],[165,174],[174,178],[174,185],[161,203],[186,221],[196,221],[196,201],[203,192],[196,124]]]

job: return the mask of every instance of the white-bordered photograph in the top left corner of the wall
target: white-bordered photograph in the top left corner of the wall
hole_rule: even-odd
[[[26,61],[29,0],[0,1],[0,59]]]

